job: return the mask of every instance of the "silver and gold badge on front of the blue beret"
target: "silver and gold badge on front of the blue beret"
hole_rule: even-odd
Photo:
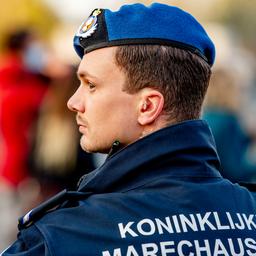
[[[83,38],[90,37],[97,29],[97,16],[99,14],[101,14],[100,9],[94,10],[92,15],[86,21],[84,21],[82,25],[79,27],[76,35]]]

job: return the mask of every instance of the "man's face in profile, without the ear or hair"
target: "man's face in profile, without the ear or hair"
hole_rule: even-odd
[[[108,153],[113,142],[130,144],[140,137],[137,122],[138,94],[124,91],[125,74],[114,62],[115,47],[86,54],[78,68],[80,86],[68,101],[77,113],[87,152]]]

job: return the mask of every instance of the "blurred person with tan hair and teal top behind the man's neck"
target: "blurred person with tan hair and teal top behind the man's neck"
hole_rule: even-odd
[[[256,164],[248,157],[253,141],[239,117],[244,89],[239,81],[238,74],[230,68],[214,70],[204,118],[215,137],[222,175],[233,182],[252,182],[256,178]]]

